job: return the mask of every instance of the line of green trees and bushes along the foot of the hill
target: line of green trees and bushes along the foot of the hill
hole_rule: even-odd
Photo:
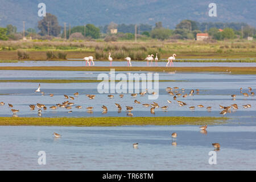
[[[241,31],[241,27],[242,31]],[[117,29],[117,34],[111,34],[112,29]],[[220,31],[222,29],[223,31]],[[43,39],[47,37],[59,36],[64,38],[64,27],[59,25],[55,15],[47,13],[46,16],[38,22],[38,34],[34,28],[28,28],[25,36]],[[250,27],[246,23],[199,23],[193,20],[182,20],[176,25],[174,30],[164,28],[162,22],[156,22],[155,27],[150,24],[137,24],[138,39],[196,39],[196,34],[207,32],[212,39],[234,39],[247,38],[253,36],[256,38],[256,29]],[[105,41],[115,40],[133,40],[135,38],[135,24],[117,24],[114,22],[105,26],[96,27],[94,24],[86,24],[86,26],[75,26],[70,30],[66,27],[66,38],[71,40],[80,39],[99,39],[104,38]],[[17,28],[11,24],[6,28],[0,27],[0,40],[19,40],[22,39],[23,33],[17,32]]]

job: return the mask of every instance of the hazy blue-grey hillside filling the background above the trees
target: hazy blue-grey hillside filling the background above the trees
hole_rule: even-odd
[[[57,16],[60,25],[71,26],[92,23],[96,26],[110,22],[148,23],[163,22],[174,28],[183,19],[197,22],[245,22],[256,27],[255,0],[215,0],[217,17],[209,17],[209,3],[204,0],[0,0],[0,27],[13,24],[22,29],[35,28],[38,20],[38,3],[44,2],[47,13]]]

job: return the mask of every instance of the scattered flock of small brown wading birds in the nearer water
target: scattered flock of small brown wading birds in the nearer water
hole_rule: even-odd
[[[249,89],[248,92],[250,93],[250,96],[254,96],[254,92],[252,92],[251,87],[249,87],[248,89]],[[171,96],[174,96],[174,97],[173,97],[173,100],[176,101],[179,106],[185,106],[185,105],[187,105],[187,104],[186,104],[185,102],[183,102],[183,101],[178,101],[178,100],[177,100],[177,97],[193,96],[193,94],[195,93],[195,90],[192,89],[188,94],[184,94],[184,92],[185,92],[184,90],[185,90],[185,89],[179,89],[178,87],[174,87],[174,88],[167,87],[167,88],[166,88],[167,93],[170,94]],[[181,91],[181,93],[179,93],[179,91]],[[38,86],[38,89],[35,90],[35,92],[36,92],[36,93],[41,93],[43,96],[44,96],[44,94],[45,94],[44,92],[41,92],[41,86],[40,86],[40,84],[39,84],[39,86]],[[200,92],[200,90],[199,90],[199,89],[196,89],[196,94],[199,94],[199,92]],[[242,88],[240,88],[240,93],[241,93],[243,96],[245,96],[245,97],[249,97],[249,94],[248,94],[248,93],[246,93],[246,92],[243,93],[243,92],[242,92]],[[153,95],[154,95],[154,94],[156,94],[156,93],[155,93],[155,92],[148,93],[148,90],[146,89],[144,92],[140,92],[139,94],[140,94],[141,96],[144,96],[145,94],[153,94]],[[53,94],[49,94],[49,97],[53,97],[53,96],[54,96]],[[52,109],[52,110],[56,110],[58,107],[64,107],[65,109],[69,110],[68,113],[72,113],[71,109],[72,109],[72,106],[73,106],[75,103],[69,102],[68,100],[75,100],[75,97],[78,97],[78,96],[79,96],[79,93],[78,93],[78,92],[77,92],[77,93],[74,93],[73,96],[64,95],[64,98],[67,99],[67,101],[62,102],[62,104],[53,105],[53,106],[51,106],[51,107],[49,107],[49,108]],[[90,100],[94,100],[94,98],[96,97],[96,95],[93,95],[93,94],[86,94],[86,96],[87,96]],[[137,93],[133,93],[133,94],[131,94],[131,96],[132,96],[133,98],[135,98],[135,97],[138,96],[138,94],[137,94]],[[119,97],[120,97],[120,98],[123,98],[124,95],[123,95],[123,94],[119,94]],[[232,97],[232,100],[236,100],[236,95],[235,95],[235,94],[231,95],[231,97]],[[113,96],[113,95],[108,95],[108,98],[112,99],[112,98],[114,98],[114,96]],[[167,100],[167,102],[168,102],[169,104],[172,103],[172,101],[170,101],[170,100]],[[141,102],[139,102],[138,100],[134,100],[134,103],[135,103],[135,104],[141,104]],[[0,105],[5,105],[5,103],[4,103],[4,102],[0,102]],[[13,107],[13,105],[11,105],[11,104],[8,104],[8,105],[9,105],[9,107],[11,107],[11,108]],[[167,108],[168,108],[167,105],[160,107],[160,106],[158,105],[158,103],[156,103],[156,102],[153,102],[152,104],[142,104],[142,105],[143,105],[144,107],[151,107],[150,112],[151,112],[152,114],[155,114],[155,109],[156,109],[156,108],[161,108],[161,109],[163,109],[163,110],[167,110]],[[121,110],[122,110],[121,105],[115,103],[115,106],[117,107],[118,112],[121,112]],[[31,110],[35,110],[35,108],[37,107],[37,108],[38,108],[38,115],[39,115],[39,117],[42,116],[42,109],[43,109],[43,110],[47,110],[46,105],[44,105],[44,104],[39,104],[39,103],[37,103],[36,105],[29,105],[29,107],[30,107]],[[197,107],[204,107],[204,105],[197,105]],[[251,105],[250,105],[250,104],[246,104],[246,105],[242,105],[242,107],[243,107],[243,108],[249,108],[249,107],[251,107]],[[82,109],[82,106],[76,106],[76,108],[77,108],[77,109]],[[208,107],[206,107],[206,108],[207,108],[207,110],[212,109],[211,106],[208,106]],[[230,109],[232,109],[232,108],[233,108],[233,109],[238,109],[238,106],[237,106],[237,104],[232,104],[232,105],[230,105],[230,106],[221,106],[221,105],[220,105],[220,108],[221,108],[221,109],[224,109],[224,110],[221,111],[220,114],[225,115],[226,113],[231,112]],[[92,112],[93,112],[93,107],[92,107],[92,106],[86,107],[86,109],[88,110],[89,113],[92,113]],[[102,113],[107,113],[107,112],[108,112],[108,107],[106,107],[105,105],[102,105],[102,109],[103,109],[103,112],[102,112]],[[133,109],[134,109],[133,106],[126,106],[126,111],[128,111],[128,113],[127,113],[128,116],[133,116],[133,114],[131,113],[131,111],[132,111]],[[195,109],[195,106],[190,106],[189,109],[193,110],[193,109]],[[18,117],[18,115],[16,115],[16,113],[18,113],[19,110],[11,109],[11,112],[13,113],[13,117]],[[201,126],[200,129],[201,129],[201,133],[207,134],[207,125]],[[57,134],[57,133],[53,133],[53,135],[54,135],[56,138],[58,138],[58,137],[61,136],[60,134]],[[177,137],[177,133],[172,133],[171,137],[172,137],[172,139],[173,139],[173,138],[176,138],[176,137]],[[173,144],[173,145],[176,145],[176,142],[172,142],[172,144]],[[220,149],[220,144],[219,144],[219,143],[212,143],[212,145],[213,145],[214,148],[216,148],[216,150],[219,150],[219,149]],[[133,147],[134,147],[134,148],[137,148],[137,147],[138,147],[138,143],[134,143],[134,144],[133,144]]]

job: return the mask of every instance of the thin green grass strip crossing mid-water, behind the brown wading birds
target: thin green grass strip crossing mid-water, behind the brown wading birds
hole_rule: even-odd
[[[49,84],[69,84],[69,83],[94,83],[102,80],[0,80],[0,82],[33,82],[33,83],[49,83]],[[115,80],[119,82],[120,80]],[[144,81],[144,80],[143,80]],[[152,80],[154,82],[154,80]],[[159,80],[159,82],[176,82],[182,80]],[[140,80],[139,82],[142,82]]]

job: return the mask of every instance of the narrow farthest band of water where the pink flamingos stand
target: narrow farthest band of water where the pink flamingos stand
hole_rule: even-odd
[[[109,67],[109,61],[94,61],[94,67]],[[166,67],[166,62],[147,63],[131,61],[133,67]],[[85,67],[85,61],[19,61],[18,63],[0,63],[0,67]],[[113,61],[112,67],[126,67],[127,61]],[[256,67],[256,63],[176,63],[174,67]]]

